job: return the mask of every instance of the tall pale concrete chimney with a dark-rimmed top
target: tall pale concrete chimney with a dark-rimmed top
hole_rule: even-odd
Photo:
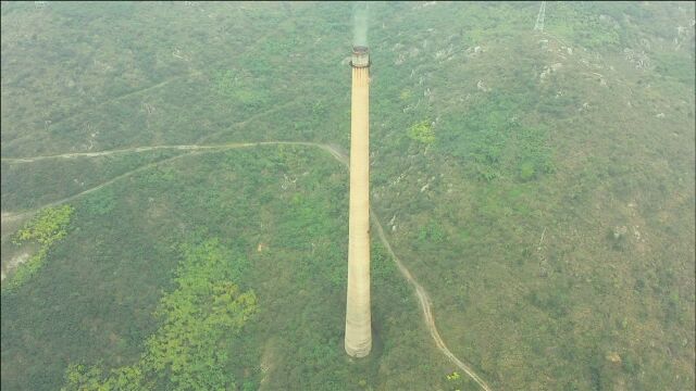
[[[350,103],[350,211],[346,353],[364,357],[372,349],[370,310],[370,55],[352,48]]]

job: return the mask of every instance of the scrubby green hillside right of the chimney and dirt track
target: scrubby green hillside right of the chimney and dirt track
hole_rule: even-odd
[[[569,7],[555,23],[555,10],[547,8],[549,30],[572,26],[573,11],[580,23],[584,10]],[[484,12],[426,10],[408,22]],[[496,10],[505,12],[505,7]],[[514,26],[520,14],[515,10],[505,20]],[[685,16],[688,12],[679,15],[682,24]],[[562,37],[572,42],[569,55],[552,38],[527,31],[511,38],[502,28],[478,40],[471,35],[471,46],[482,46],[483,54],[437,61],[438,51],[461,38],[449,38],[455,28],[431,25],[430,36],[423,26],[423,36],[394,50],[395,65],[399,52],[419,52],[395,66],[384,87],[398,96],[390,81],[406,79],[400,88],[412,97],[430,90],[431,104],[421,109],[422,98],[412,118],[407,113],[376,119],[384,122],[376,128],[385,129],[388,142],[377,152],[373,173],[380,210],[386,218],[396,215],[396,247],[433,287],[446,340],[502,388],[688,388],[694,382],[693,66],[681,74],[685,81],[675,83],[655,70],[626,65],[621,50],[602,47],[598,56],[580,48],[592,37]],[[547,47],[542,39],[549,40]],[[662,55],[658,48],[649,55]],[[687,53],[671,55],[688,61]],[[423,56],[436,64],[424,65]],[[555,63],[562,67],[542,84],[544,66]],[[607,75],[607,87],[592,72]],[[477,90],[477,80],[492,91]],[[508,100],[514,103],[502,103]],[[588,108],[579,112],[585,102]],[[520,150],[534,140],[515,136],[499,151],[484,151],[493,161],[484,164],[499,178],[488,182],[472,173],[476,156],[451,140],[475,141],[465,138],[472,131],[487,137],[477,126],[495,129],[493,116],[476,123],[481,105],[499,110],[506,121],[517,117],[546,129],[555,173],[521,180]],[[662,112],[664,118],[656,117]],[[446,142],[425,148],[406,137],[405,128],[423,117],[439,117],[435,134]],[[493,136],[499,141],[499,133]],[[608,238],[617,226],[629,228],[620,242]],[[612,353],[621,364],[606,358]]]

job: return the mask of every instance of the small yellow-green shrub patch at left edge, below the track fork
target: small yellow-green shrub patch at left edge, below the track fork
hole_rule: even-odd
[[[53,243],[67,235],[67,225],[73,212],[71,205],[44,209],[16,232],[13,240],[15,245],[36,241],[40,247],[37,253],[17,266],[10,280],[2,286],[3,293],[16,291],[44,267]]]

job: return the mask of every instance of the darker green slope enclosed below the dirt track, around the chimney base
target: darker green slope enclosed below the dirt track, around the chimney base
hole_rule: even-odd
[[[285,176],[297,181],[283,190]],[[171,290],[162,270],[173,270],[175,244],[208,237],[244,254],[237,282],[259,297],[258,316],[225,346],[235,378],[258,383],[263,362],[272,389],[438,387],[449,365],[380,248],[374,355],[348,365],[343,353],[346,179],[323,152],[269,147],[188,156],[114,184],[105,214],[77,203],[70,242],[39,278],[2,297],[3,388],[51,389],[67,363],[134,361],[157,327],[161,290]],[[35,345],[42,349],[22,361]]]

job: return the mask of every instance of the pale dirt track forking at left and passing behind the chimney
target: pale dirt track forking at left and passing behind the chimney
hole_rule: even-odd
[[[54,205],[59,205],[69,201],[72,201],[78,197],[88,194],[92,191],[97,191],[105,186],[109,186],[117,180],[121,180],[123,178],[129,177],[133,174],[139,173],[141,171],[151,168],[153,166],[157,166],[159,164],[165,163],[165,162],[171,162],[184,156],[188,156],[191,154],[196,154],[196,153],[204,153],[206,151],[220,151],[220,150],[229,150],[229,149],[237,149],[237,148],[249,148],[249,147],[259,147],[259,146],[306,146],[306,147],[311,147],[311,148],[319,148],[325,152],[327,152],[328,154],[331,154],[334,159],[336,159],[336,161],[338,161],[341,165],[344,165],[346,168],[348,168],[348,156],[339,150],[338,147],[336,146],[330,146],[330,144],[322,144],[322,143],[318,143],[318,142],[309,142],[309,141],[261,141],[261,142],[231,142],[231,143],[222,143],[222,144],[184,144],[184,146],[152,146],[152,147],[137,147],[137,148],[128,148],[128,149],[121,149],[121,150],[112,150],[112,151],[101,151],[101,152],[83,152],[83,153],[63,153],[63,154],[55,154],[55,155],[45,155],[45,156],[34,156],[34,157],[16,157],[16,159],[1,159],[3,162],[11,162],[11,163],[32,163],[32,162],[37,162],[37,161],[41,161],[41,160],[48,160],[48,159],[71,159],[71,157],[79,157],[79,156],[104,156],[104,155],[110,155],[110,154],[117,154],[117,153],[126,153],[126,152],[146,152],[146,151],[153,151],[153,150],[159,150],[159,149],[175,149],[175,150],[183,150],[183,151],[188,151],[187,153],[183,153],[173,157],[169,157],[165,160],[161,160],[159,162],[153,162],[153,163],[149,163],[146,164],[141,167],[138,167],[136,169],[133,169],[130,172],[127,172],[125,174],[119,175],[117,177],[114,177],[99,186],[92,187],[90,189],[87,189],[85,191],[82,191],[77,194],[73,194],[71,197],[64,198],[62,200],[58,200],[58,201],[53,201],[51,203],[48,203],[39,209],[36,210],[32,210],[32,211],[25,211],[25,212],[21,212],[21,213],[2,213],[2,219],[3,220],[13,220],[16,218],[22,218],[22,217],[26,217],[29,216],[32,214],[34,214],[36,211],[42,209],[42,207],[47,207],[47,206],[54,206]],[[382,241],[382,243],[384,244],[384,247],[386,248],[387,252],[389,253],[389,255],[391,255],[391,258],[394,260],[394,262],[396,263],[399,272],[401,273],[401,275],[403,276],[403,278],[406,278],[406,280],[413,287],[413,289],[415,290],[415,295],[421,304],[421,310],[423,312],[423,320],[425,321],[425,325],[427,327],[427,329],[431,332],[431,337],[433,338],[433,340],[435,341],[435,345],[437,346],[437,349],[447,357],[449,358],[450,362],[452,362],[452,364],[455,364],[457,367],[459,367],[461,370],[463,370],[471,379],[473,379],[483,390],[485,391],[492,391],[490,387],[478,376],[476,375],[476,373],[471,368],[470,365],[465,364],[464,362],[462,362],[460,358],[458,358],[445,344],[445,341],[443,341],[442,337],[439,336],[439,332],[437,331],[437,326],[435,325],[435,317],[433,316],[433,310],[431,307],[431,299],[430,295],[427,294],[427,291],[425,290],[425,288],[423,288],[413,277],[413,275],[411,275],[411,272],[406,267],[406,265],[403,265],[403,263],[401,263],[401,260],[399,260],[396,254],[394,253],[394,250],[391,249],[391,244],[389,243],[389,241],[387,240],[386,235],[384,234],[384,229],[382,228],[382,224],[380,223],[380,218],[377,216],[377,214],[370,209],[370,216],[372,219],[372,224],[376,227],[377,229],[377,236],[380,237],[380,240]]]

